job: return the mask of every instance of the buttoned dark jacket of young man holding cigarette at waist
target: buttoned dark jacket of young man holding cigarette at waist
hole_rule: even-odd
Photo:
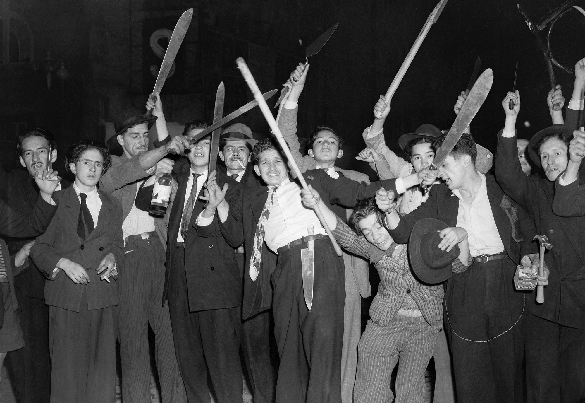
[[[118,270],[124,257],[122,239],[122,206],[111,194],[98,190],[102,207],[99,210],[98,225],[85,241],[77,235],[77,219],[81,203],[73,186],[56,192],[59,208],[49,228],[37,238],[30,256],[52,281],[47,281],[44,299],[47,305],[79,312],[82,291],[85,289],[88,309],[101,309],[117,305],[116,284],[114,281],[100,280],[95,269],[108,253],[116,259]],[[90,282],[75,284],[60,270],[53,278],[53,269],[61,258],[80,264],[90,276]],[[115,276],[110,279],[115,279]]]

